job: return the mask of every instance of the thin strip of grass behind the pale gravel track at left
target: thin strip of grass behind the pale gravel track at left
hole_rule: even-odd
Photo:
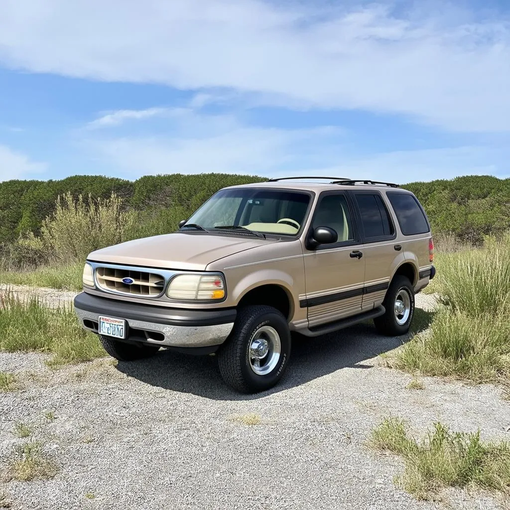
[[[46,266],[26,271],[0,270],[0,283],[80,291],[82,289],[82,273],[82,263],[60,267]]]

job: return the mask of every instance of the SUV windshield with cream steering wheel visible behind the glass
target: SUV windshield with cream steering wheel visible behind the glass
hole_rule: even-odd
[[[207,230],[243,226],[254,232],[295,235],[305,219],[309,202],[307,193],[295,191],[222,190],[205,202],[186,223]]]

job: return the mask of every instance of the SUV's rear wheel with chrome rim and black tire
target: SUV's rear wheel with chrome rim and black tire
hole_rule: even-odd
[[[386,312],[374,319],[381,335],[398,337],[409,331],[415,309],[414,288],[409,279],[397,275],[393,278],[382,305]]]

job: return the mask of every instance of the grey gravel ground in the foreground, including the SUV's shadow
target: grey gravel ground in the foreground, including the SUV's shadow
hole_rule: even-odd
[[[422,309],[432,303],[417,296]],[[0,394],[0,464],[27,441],[13,434],[21,421],[60,466],[54,479],[6,482],[0,494],[31,510],[496,508],[489,495],[461,491],[418,501],[394,486],[398,458],[366,448],[390,414],[419,435],[441,420],[510,439],[510,403],[498,388],[425,377],[424,390],[406,389],[411,377],[377,358],[403,340],[365,324],[296,339],[281,384],[250,396],[223,384],[214,356],[161,351],[53,371],[40,354],[0,353],[0,370],[21,381]],[[245,424],[252,414],[260,423]]]

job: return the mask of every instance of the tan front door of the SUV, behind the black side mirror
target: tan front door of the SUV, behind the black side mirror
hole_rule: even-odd
[[[342,191],[319,196],[309,232],[319,226],[333,228],[338,240],[315,249],[303,246],[309,327],[361,313],[365,282],[364,247],[353,218],[351,198]]]

